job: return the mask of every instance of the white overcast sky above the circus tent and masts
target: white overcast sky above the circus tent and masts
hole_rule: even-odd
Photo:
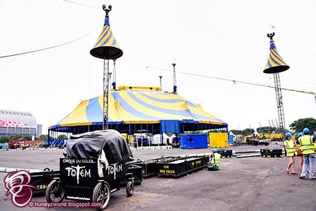
[[[275,46],[291,67],[280,73],[282,88],[315,91],[316,1],[76,2],[92,8],[63,0],[0,0],[0,56],[92,32],[67,46],[0,59],[0,108],[32,112],[44,133],[81,100],[102,93],[103,61],[89,50],[103,28],[103,3],[113,7],[110,25],[124,52],[116,61],[118,85],[159,86],[160,70],[154,68],[172,70],[175,61],[180,72],[273,86],[273,75],[262,72],[272,25]],[[172,91],[172,72],[161,73],[163,90]],[[200,103],[229,129],[257,128],[277,119],[272,88],[176,77],[182,97]],[[287,127],[299,118],[315,118],[315,96],[282,94]]]

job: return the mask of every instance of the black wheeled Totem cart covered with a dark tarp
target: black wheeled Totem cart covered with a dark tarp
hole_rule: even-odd
[[[63,199],[92,201],[107,208],[111,194],[126,183],[126,194],[134,193],[133,174],[127,173],[133,155],[127,141],[116,130],[76,134],[67,143],[65,157],[60,159],[60,178],[46,189],[48,202]]]

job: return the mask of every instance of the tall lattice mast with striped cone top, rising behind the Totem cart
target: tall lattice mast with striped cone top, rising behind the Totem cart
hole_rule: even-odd
[[[108,129],[109,124],[109,59],[114,61],[123,55],[123,51],[120,50],[116,39],[109,27],[109,12],[112,10],[112,6],[108,8],[103,5],[105,11],[105,21],[103,30],[98,37],[94,48],[90,50],[90,54],[98,59],[103,59],[103,130]],[[115,89],[115,87],[114,87]]]

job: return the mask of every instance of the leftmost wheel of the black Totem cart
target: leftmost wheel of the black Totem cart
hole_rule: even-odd
[[[61,202],[65,198],[65,187],[61,181],[54,179],[48,185],[45,192],[45,198],[48,202]]]

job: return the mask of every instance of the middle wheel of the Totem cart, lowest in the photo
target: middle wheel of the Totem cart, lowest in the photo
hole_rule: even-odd
[[[109,203],[109,198],[111,198],[111,188],[109,183],[99,182],[96,184],[96,187],[93,189],[92,201],[102,203],[100,207],[96,207],[96,210],[104,210],[107,208]]]

